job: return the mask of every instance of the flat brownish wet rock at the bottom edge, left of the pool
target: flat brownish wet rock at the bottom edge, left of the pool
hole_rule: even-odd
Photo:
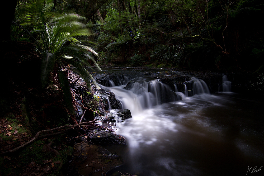
[[[74,146],[73,165],[79,175],[105,175],[122,165],[119,155],[111,153],[100,145],[78,143]],[[99,164],[100,163],[100,164]]]

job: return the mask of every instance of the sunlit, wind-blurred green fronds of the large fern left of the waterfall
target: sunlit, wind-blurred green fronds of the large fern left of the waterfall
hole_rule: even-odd
[[[98,54],[91,47],[82,45],[82,43],[75,38],[76,36],[92,35],[91,30],[88,29],[85,24],[77,20],[84,20],[84,18],[79,15],[69,14],[57,18],[56,22],[54,22],[54,25],[49,26],[46,23],[44,25],[45,30],[43,30],[42,33],[44,48],[48,50],[48,53],[53,53],[54,63],[58,60],[63,60],[64,63],[69,63],[79,68],[78,66],[80,66],[80,63],[90,66],[87,61],[87,59],[90,59],[95,63],[97,68],[100,69],[96,61],[92,58],[92,56],[89,55],[89,53],[95,56],[98,56]],[[66,21],[67,23],[65,23]],[[72,62],[72,60],[66,59],[65,56],[72,56],[74,59],[78,59],[78,64],[76,65],[76,63]],[[45,63],[42,65],[44,68],[42,69],[43,72],[41,72],[43,81],[48,80],[48,74],[46,72],[50,69],[47,69],[47,66],[52,66],[51,64],[48,64],[49,60],[44,60]],[[77,70],[81,75],[85,75],[84,80],[87,81],[87,84],[89,84],[90,74],[87,72],[87,70],[83,70],[81,68]],[[46,78],[44,79],[44,77]],[[47,82],[44,81],[42,83],[43,86],[45,86]]]

